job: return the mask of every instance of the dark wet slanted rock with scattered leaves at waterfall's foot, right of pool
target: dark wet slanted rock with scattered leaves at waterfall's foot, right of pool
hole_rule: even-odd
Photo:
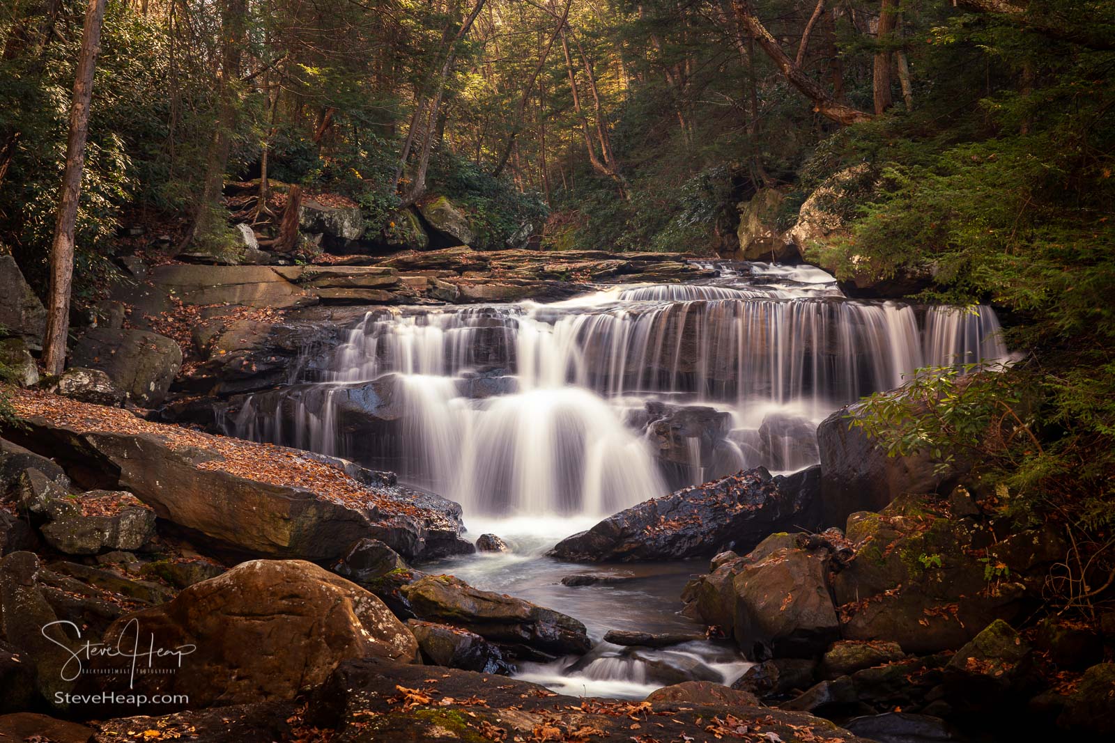
[[[643,501],[560,541],[552,556],[579,563],[710,557],[746,551],[772,531],[815,528],[820,472],[789,477],[764,468]]]

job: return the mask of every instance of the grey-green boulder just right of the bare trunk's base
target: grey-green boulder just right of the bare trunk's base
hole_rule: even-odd
[[[154,408],[166,398],[182,368],[182,349],[157,333],[90,327],[77,342],[70,361],[75,366],[99,369],[132,402]]]

